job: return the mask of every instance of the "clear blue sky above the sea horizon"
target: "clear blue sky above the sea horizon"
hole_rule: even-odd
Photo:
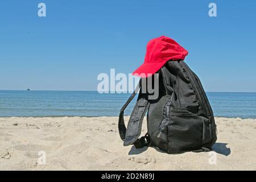
[[[46,3],[46,17],[38,3]],[[210,2],[217,17],[208,16]],[[131,73],[148,40],[166,35],[206,91],[256,92],[256,1],[1,1],[0,89],[96,90]]]

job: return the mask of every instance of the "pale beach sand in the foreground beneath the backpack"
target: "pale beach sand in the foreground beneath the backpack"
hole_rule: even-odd
[[[256,169],[256,119],[216,118],[215,152],[176,155],[123,147],[117,122],[117,117],[0,118],[0,169]],[[44,154],[46,164],[39,160]]]

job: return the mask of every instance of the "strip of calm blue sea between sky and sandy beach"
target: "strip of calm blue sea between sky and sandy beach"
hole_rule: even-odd
[[[0,90],[0,117],[118,116],[130,93]],[[256,93],[208,92],[216,117],[256,118]],[[130,115],[136,98],[125,111]]]

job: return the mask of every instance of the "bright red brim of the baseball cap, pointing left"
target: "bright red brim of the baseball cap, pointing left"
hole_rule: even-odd
[[[166,64],[167,61],[158,63],[143,63],[138,69],[136,69],[132,74],[139,77],[149,77],[154,75],[159,71],[160,68]]]

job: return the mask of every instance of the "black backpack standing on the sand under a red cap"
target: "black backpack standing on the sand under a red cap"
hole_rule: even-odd
[[[159,97],[149,100],[150,94],[140,90],[140,80],[119,113],[118,130],[124,141],[123,146],[153,146],[168,153],[212,150],[217,139],[217,129],[199,78],[184,61],[170,60],[158,73]],[[138,100],[126,129],[123,112],[138,90]],[[146,113],[148,131],[139,138]]]

